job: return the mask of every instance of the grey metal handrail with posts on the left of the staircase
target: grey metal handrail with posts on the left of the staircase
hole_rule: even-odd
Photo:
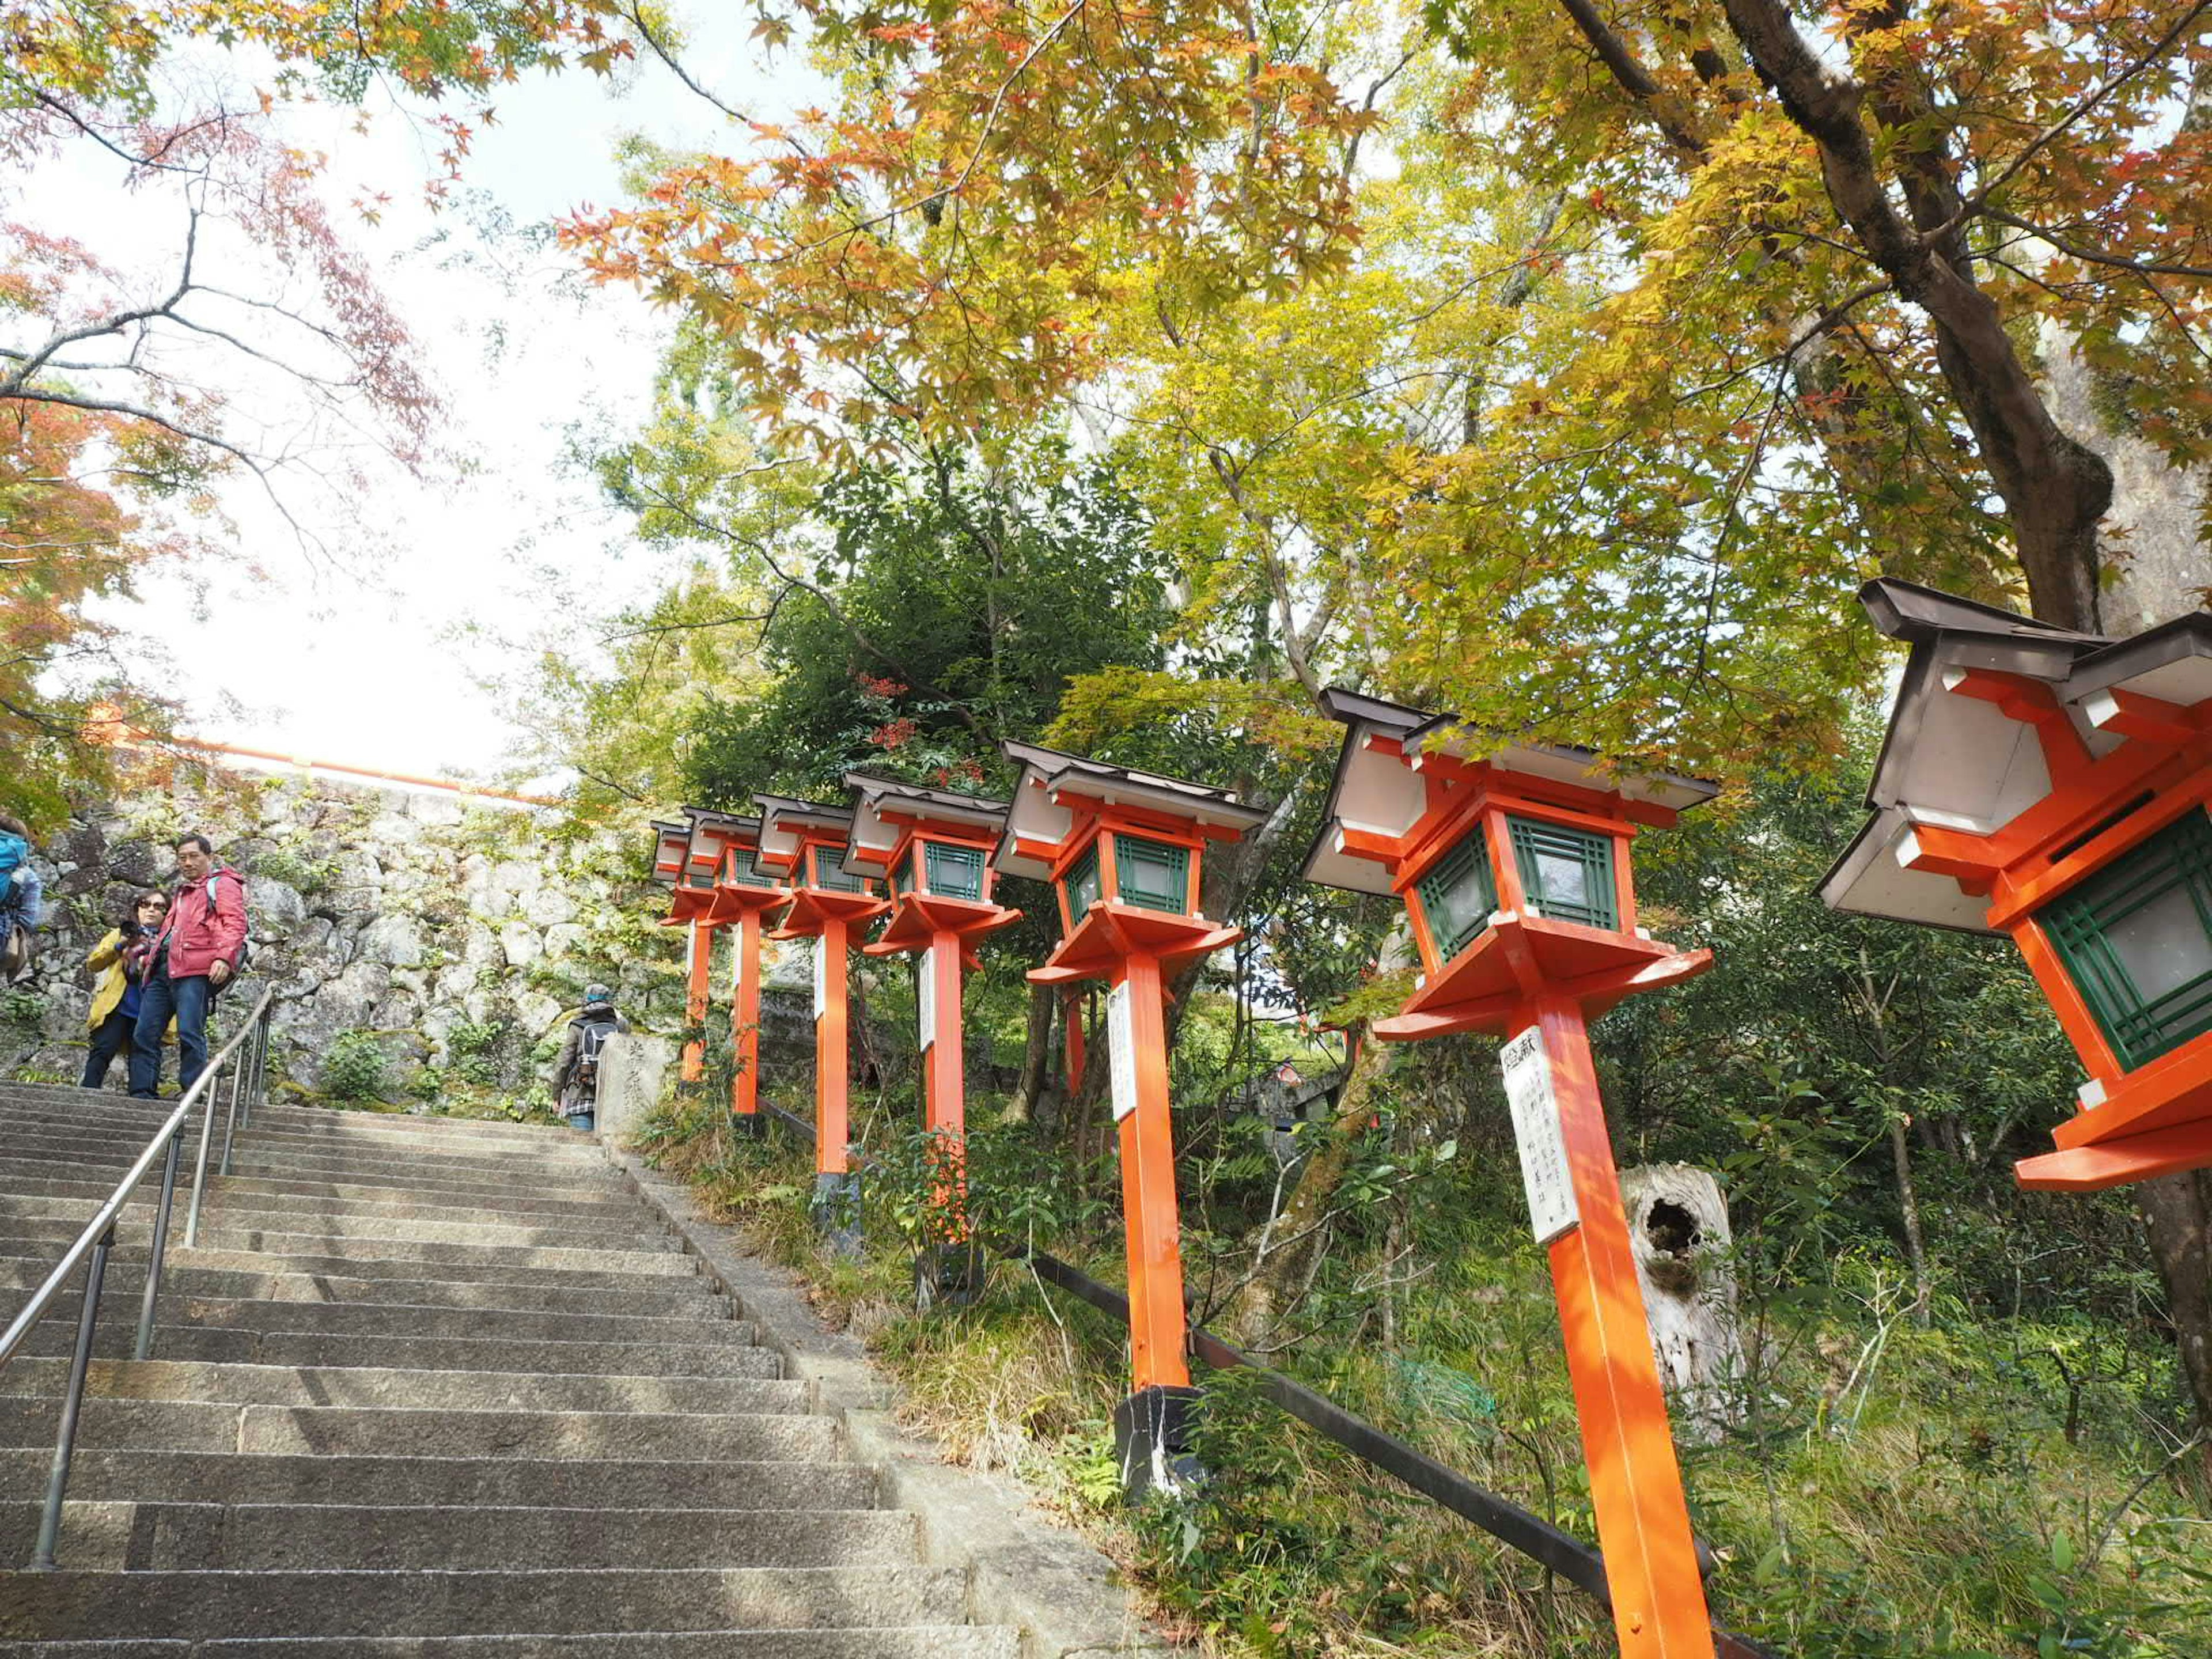
[[[33,1571],[53,1568],[53,1548],[62,1533],[62,1498],[69,1491],[69,1464],[77,1447],[77,1418],[84,1411],[84,1376],[93,1360],[93,1327],[100,1321],[100,1290],[108,1274],[108,1252],[115,1248],[115,1223],[131,1203],[131,1194],[137,1192],[137,1183],[146,1179],[153,1168],[155,1157],[161,1157],[161,1212],[153,1225],[153,1256],[146,1263],[146,1294],[139,1298],[139,1325],[137,1340],[133,1343],[133,1358],[148,1358],[153,1354],[153,1314],[155,1303],[161,1294],[161,1267],[168,1256],[168,1219],[170,1206],[177,1197],[177,1161],[184,1150],[179,1130],[192,1115],[199,1102],[208,1104],[201,1113],[199,1126],[199,1159],[192,1168],[192,1203],[184,1228],[184,1243],[190,1248],[199,1239],[199,1199],[201,1188],[208,1179],[208,1137],[215,1130],[215,1084],[223,1075],[223,1066],[239,1051],[241,1044],[252,1040],[248,1057],[230,1073],[230,1119],[223,1128],[223,1172],[230,1172],[230,1137],[239,1117],[239,1086],[252,1075],[254,1086],[261,1086],[265,1077],[268,1042],[270,1042],[270,1004],[274,1004],[276,991],[263,991],[254,1011],[246,1015],[246,1024],[239,1026],[237,1035],[230,1037],[221,1048],[217,1048],[192,1086],[184,1091],[177,1102],[177,1110],[168,1115],[168,1121],[155,1130],[153,1139],[146,1141],[146,1150],[137,1155],[137,1161],[124,1172],[124,1179],[115,1183],[106,1203],[93,1214],[77,1234],[77,1241],[62,1252],[62,1259],[46,1274],[44,1283],[31,1292],[15,1318],[9,1321],[7,1332],[0,1332],[0,1369],[7,1367],[11,1358],[31,1338],[40,1318],[53,1305],[53,1298],[62,1294],[62,1285],[77,1270],[77,1263],[91,1256],[91,1265],[84,1270],[84,1303],[77,1310],[77,1345],[69,1360],[69,1389],[62,1394],[62,1425],[53,1442],[53,1473],[46,1478],[46,1506],[38,1520],[38,1546],[31,1553]]]

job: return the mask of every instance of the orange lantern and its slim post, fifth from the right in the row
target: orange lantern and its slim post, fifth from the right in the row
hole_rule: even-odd
[[[860,1186],[845,1155],[852,1104],[847,947],[889,905],[872,880],[845,869],[852,807],[781,794],[761,794],[754,803],[761,807],[761,863],[792,896],[770,938],[814,940],[814,1219],[856,1250]]]

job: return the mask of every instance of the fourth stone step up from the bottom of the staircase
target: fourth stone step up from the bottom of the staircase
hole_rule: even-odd
[[[53,1447],[0,1449],[0,1493],[44,1493]],[[542,1458],[237,1458],[82,1447],[71,1502],[434,1504],[447,1509],[874,1509],[876,1471],[854,1462],[622,1462]],[[0,1604],[4,1606],[4,1604]],[[526,1626],[524,1626],[526,1628]]]

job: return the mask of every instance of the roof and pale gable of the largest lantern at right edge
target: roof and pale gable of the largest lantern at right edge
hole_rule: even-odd
[[[1993,931],[1986,896],[1900,863],[1913,830],[1986,836],[2046,801],[2053,779],[2037,714],[2064,721],[2095,761],[2128,741],[2126,701],[2185,708],[2212,697],[2203,611],[2110,639],[1891,577],[1858,597],[1911,655],[1867,785],[1871,816],[1820,883],[1834,909]]]

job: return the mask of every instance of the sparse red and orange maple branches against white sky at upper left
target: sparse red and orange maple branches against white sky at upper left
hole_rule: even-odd
[[[571,55],[606,69],[628,46],[602,11],[0,0],[0,159],[100,179],[133,221],[69,234],[27,217],[22,177],[0,190],[0,759],[33,818],[106,776],[86,699],[153,730],[173,712],[131,630],[88,602],[164,560],[223,557],[226,478],[257,480],[321,549],[301,491],[358,498],[363,449],[409,469],[429,456],[438,403],[409,330],[334,221],[323,157],[285,137],[283,104],[358,104],[378,84],[480,100]],[[237,84],[228,49],[270,84]],[[434,195],[489,115],[429,104]],[[104,248],[111,228],[124,246],[173,237],[148,261]]]

